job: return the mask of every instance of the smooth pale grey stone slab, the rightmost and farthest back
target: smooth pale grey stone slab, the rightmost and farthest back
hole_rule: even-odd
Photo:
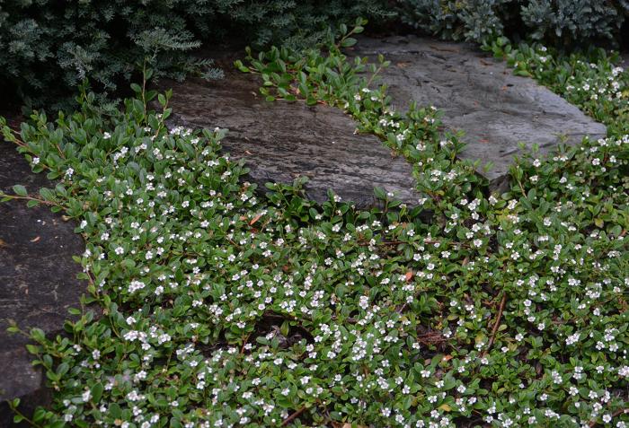
[[[350,55],[383,54],[391,66],[382,72],[396,109],[433,105],[444,111],[444,125],[463,130],[463,158],[480,160],[497,187],[507,178],[518,143],[538,144],[548,153],[565,139],[578,144],[585,135],[600,138],[606,127],[589,118],[533,79],[513,75],[504,62],[469,44],[414,36],[361,38]]]

